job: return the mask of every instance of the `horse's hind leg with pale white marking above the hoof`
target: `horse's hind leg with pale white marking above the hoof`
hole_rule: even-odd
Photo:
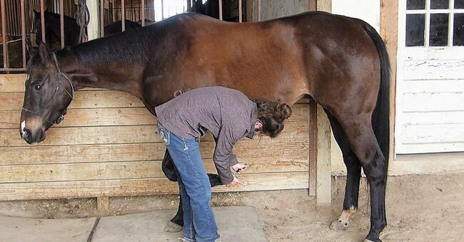
[[[359,181],[361,174],[361,165],[358,157],[353,153],[350,148],[348,139],[343,131],[340,123],[326,110],[329,122],[333,130],[333,135],[340,147],[343,154],[343,162],[346,165],[346,186],[345,198],[343,199],[343,210],[341,215],[331,223],[330,228],[334,231],[345,231],[348,229],[350,217],[358,211],[358,194],[359,194]]]

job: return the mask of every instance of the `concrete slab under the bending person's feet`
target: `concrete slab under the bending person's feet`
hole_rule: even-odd
[[[219,234],[224,242],[267,241],[254,207],[215,207],[213,211]],[[160,210],[101,218],[92,242],[178,241],[177,238],[182,237],[181,232],[163,231],[164,226],[175,213],[174,210]]]

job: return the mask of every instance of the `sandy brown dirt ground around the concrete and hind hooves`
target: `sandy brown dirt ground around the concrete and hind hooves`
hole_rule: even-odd
[[[341,211],[344,177],[333,178],[331,206],[316,206],[308,191],[213,194],[213,206],[255,206],[268,241],[362,241],[368,233],[368,190],[360,188],[360,208],[345,232],[328,226]],[[118,197],[112,215],[176,209],[178,196]],[[389,177],[388,227],[383,241],[464,241],[464,174]],[[0,214],[36,218],[96,216],[95,199],[1,202]]]

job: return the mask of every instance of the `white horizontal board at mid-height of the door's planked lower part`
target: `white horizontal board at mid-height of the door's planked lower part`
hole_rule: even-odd
[[[464,111],[464,93],[404,93],[403,112]]]

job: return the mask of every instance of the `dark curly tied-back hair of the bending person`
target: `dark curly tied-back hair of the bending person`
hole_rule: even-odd
[[[286,103],[269,102],[265,100],[255,101],[258,106],[258,120],[263,127],[255,131],[260,131],[264,135],[273,138],[283,130],[283,120],[290,117],[292,110]]]

